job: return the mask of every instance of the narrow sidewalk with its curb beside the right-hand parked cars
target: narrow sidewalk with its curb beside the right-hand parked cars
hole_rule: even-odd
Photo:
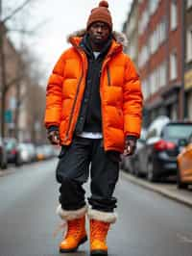
[[[158,192],[163,196],[170,199],[178,201],[190,208],[192,208],[192,190],[179,190],[176,183],[150,183],[145,179],[136,178],[130,173],[121,171],[123,178],[128,179],[135,185],[141,186],[145,189],[151,190],[153,192]]]

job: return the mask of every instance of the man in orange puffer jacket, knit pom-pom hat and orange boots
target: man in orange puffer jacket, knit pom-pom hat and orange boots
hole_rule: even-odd
[[[91,11],[86,30],[69,41],[71,48],[49,79],[45,113],[48,138],[61,145],[57,213],[66,220],[67,232],[60,252],[75,251],[87,240],[87,214],[90,254],[108,255],[120,154],[132,155],[139,138],[142,93],[132,61],[112,33],[108,2],[101,1]],[[83,184],[90,164],[91,196],[86,203]]]

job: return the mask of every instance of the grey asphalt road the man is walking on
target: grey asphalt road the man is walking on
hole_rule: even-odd
[[[0,177],[0,256],[58,256],[61,234],[56,161],[22,166]],[[118,220],[110,256],[192,256],[192,209],[120,177]],[[87,225],[88,229],[88,225]],[[89,255],[88,243],[68,256]]]

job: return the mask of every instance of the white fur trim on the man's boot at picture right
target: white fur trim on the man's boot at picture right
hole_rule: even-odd
[[[88,209],[88,218],[96,219],[108,223],[114,223],[117,219],[116,213],[101,212],[94,209]]]

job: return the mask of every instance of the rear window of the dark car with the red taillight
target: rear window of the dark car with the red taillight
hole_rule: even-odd
[[[166,137],[169,139],[188,138],[192,133],[192,124],[169,124],[166,127]]]

